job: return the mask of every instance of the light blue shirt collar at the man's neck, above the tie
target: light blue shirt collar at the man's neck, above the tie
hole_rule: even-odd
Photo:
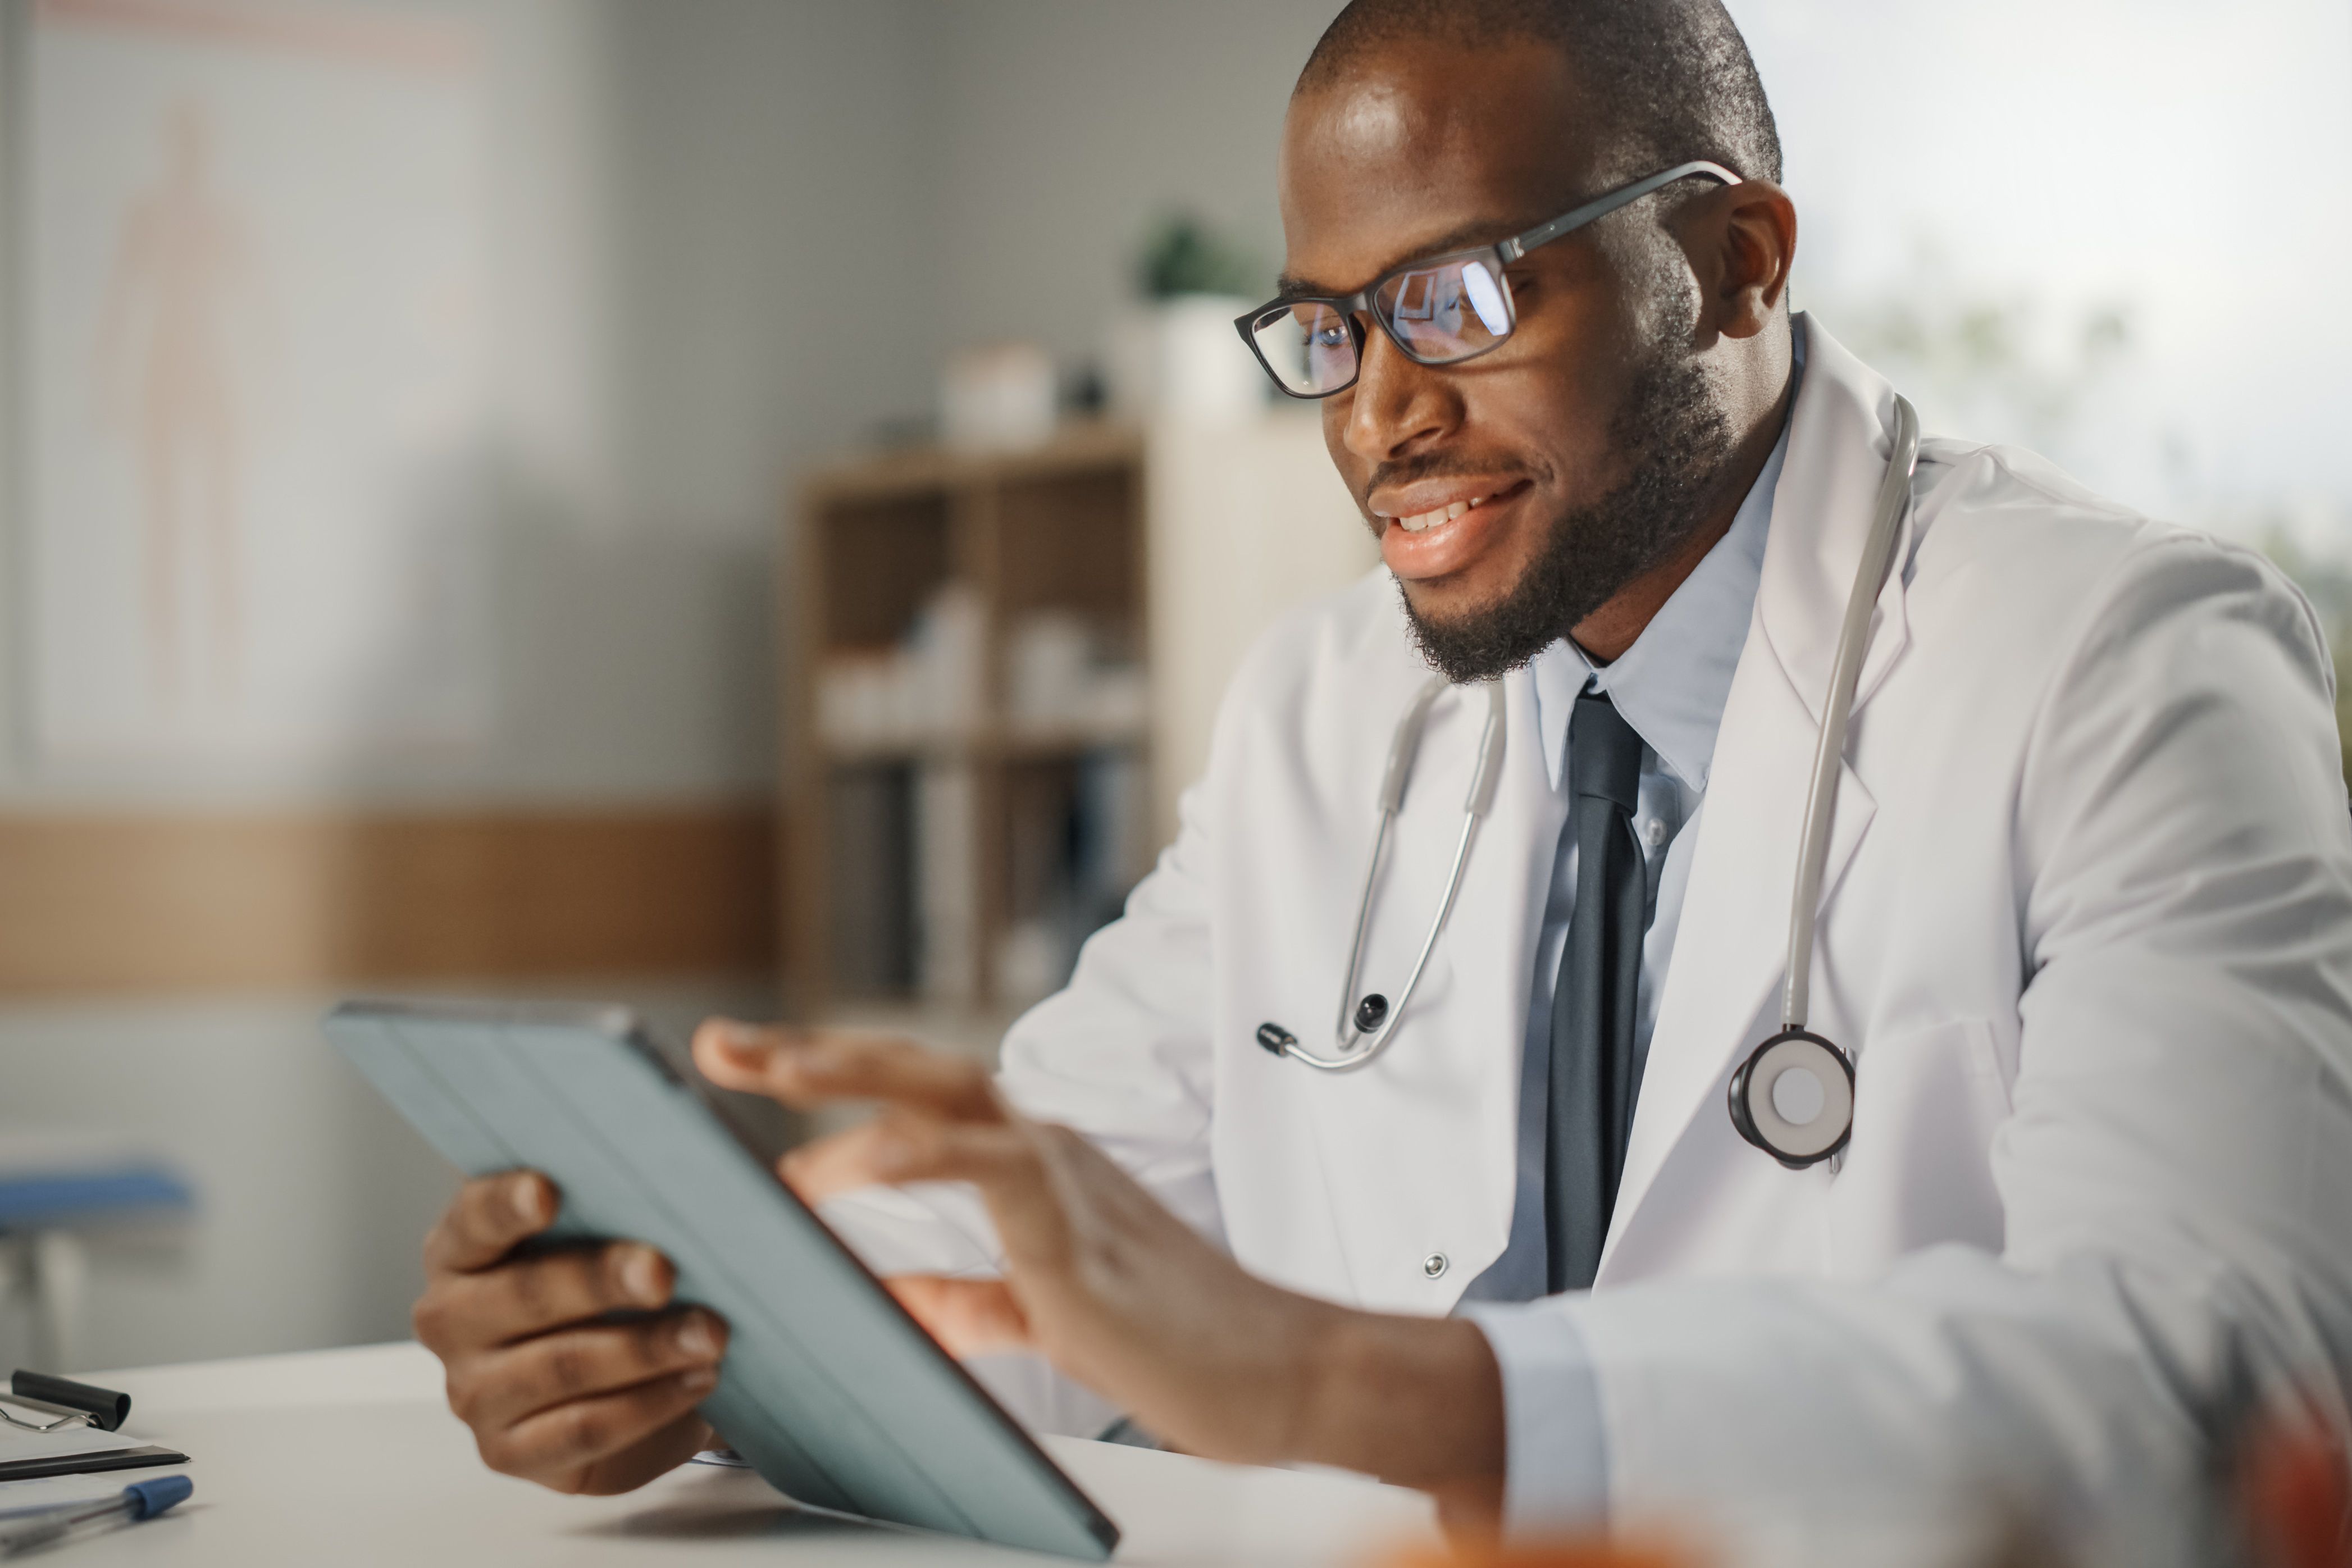
[[[1797,364],[1802,371],[1802,350]],[[1715,731],[1724,722],[1731,675],[1748,644],[1748,621],[1755,616],[1757,583],[1764,576],[1764,536],[1771,529],[1771,498],[1785,456],[1783,421],[1780,440],[1773,442],[1764,470],[1731,517],[1731,529],[1715,541],[1616,663],[1595,665],[1569,637],[1536,656],[1531,665],[1536,724],[1555,790],[1569,755],[1569,715],[1588,686],[1609,693],[1635,733],[1682,783],[1693,790],[1708,788]]]

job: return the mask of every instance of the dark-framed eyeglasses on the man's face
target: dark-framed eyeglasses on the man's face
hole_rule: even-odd
[[[1505,266],[1538,244],[1571,235],[1693,174],[1724,186],[1740,183],[1740,176],[1719,162],[1679,162],[1498,244],[1411,261],[1345,299],[1275,299],[1235,317],[1232,324],[1275,386],[1291,397],[1331,397],[1355,386],[1364,369],[1364,313],[1381,322],[1381,331],[1406,360],[1461,364],[1498,348],[1519,324],[1519,313],[1510,303],[1510,280],[1503,277]]]

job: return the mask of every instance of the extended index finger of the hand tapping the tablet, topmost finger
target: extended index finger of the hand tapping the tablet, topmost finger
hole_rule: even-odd
[[[694,1063],[713,1084],[786,1105],[889,1100],[964,1121],[1002,1121],[983,1063],[847,1030],[786,1030],[713,1018],[694,1032]]]

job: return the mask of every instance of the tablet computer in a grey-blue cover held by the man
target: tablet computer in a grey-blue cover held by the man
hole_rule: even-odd
[[[1120,1533],[623,1009],[346,1001],[334,1046],[468,1175],[546,1171],[550,1237],[661,1248],[729,1324],[701,1410],[788,1497],[1101,1561]]]

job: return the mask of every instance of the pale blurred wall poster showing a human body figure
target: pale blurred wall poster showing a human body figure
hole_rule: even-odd
[[[38,764],[315,771],[492,724],[482,40],[35,0],[19,322]]]

